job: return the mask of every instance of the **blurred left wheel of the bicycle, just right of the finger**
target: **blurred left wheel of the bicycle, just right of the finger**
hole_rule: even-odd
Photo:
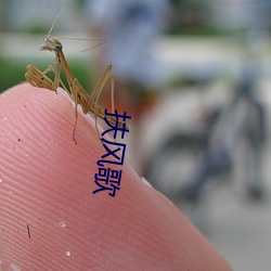
[[[173,134],[151,156],[144,176],[154,188],[178,204],[179,191],[191,180],[206,147],[205,134]]]

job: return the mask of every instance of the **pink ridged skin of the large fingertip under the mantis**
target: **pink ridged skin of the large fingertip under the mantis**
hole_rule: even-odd
[[[126,158],[108,164],[122,170],[116,196],[92,194],[105,151],[81,113],[76,145],[74,121],[61,89],[0,95],[0,270],[231,270]]]

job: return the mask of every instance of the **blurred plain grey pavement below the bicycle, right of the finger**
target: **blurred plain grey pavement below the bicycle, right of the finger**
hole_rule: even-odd
[[[269,103],[269,99],[267,101]],[[268,117],[270,121],[269,111]],[[270,128],[269,124],[269,130]],[[268,134],[271,134],[270,131]],[[236,178],[233,180],[234,185],[225,184],[211,191],[204,211],[207,238],[221,251],[235,271],[271,270],[270,139],[266,145],[263,164],[262,175],[267,195],[264,201],[248,201],[245,184]]]

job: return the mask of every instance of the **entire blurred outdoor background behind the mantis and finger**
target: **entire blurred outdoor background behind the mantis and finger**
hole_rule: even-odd
[[[39,46],[64,2],[0,0],[1,92],[53,64]],[[79,38],[61,41],[86,90],[113,64],[126,157],[233,270],[271,267],[270,14],[271,0],[69,0],[52,31]]]

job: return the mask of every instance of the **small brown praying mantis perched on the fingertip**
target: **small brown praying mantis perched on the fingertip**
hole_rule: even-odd
[[[52,27],[51,27],[52,29]],[[50,29],[50,31],[51,31]],[[88,114],[89,112],[93,113],[95,118],[104,118],[106,117],[107,121],[115,127],[124,128],[125,124],[120,120],[118,120],[115,116],[108,116],[105,114],[105,111],[98,105],[98,100],[100,98],[100,94],[104,88],[104,86],[111,81],[111,88],[112,88],[112,96],[114,94],[114,77],[111,74],[112,65],[107,65],[104,74],[102,77],[98,80],[94,89],[89,94],[80,85],[78,79],[74,76],[72,69],[69,68],[67,61],[65,59],[65,55],[62,51],[63,46],[60,42],[60,40],[56,37],[53,37],[50,35],[47,35],[44,37],[44,42],[40,47],[41,51],[52,51],[55,54],[55,62],[53,66],[49,66],[44,72],[41,72],[39,68],[37,68],[35,65],[29,64],[27,65],[27,72],[25,74],[26,80],[34,87],[38,88],[46,88],[51,91],[56,91],[57,87],[62,86],[67,93],[69,94],[70,99],[75,102],[75,126],[73,131],[73,139],[74,142],[77,144],[75,132],[76,132],[76,126],[77,126],[77,119],[78,119],[78,111],[77,106],[78,104],[81,105],[82,112],[85,114]],[[66,77],[66,80],[68,82],[68,89],[65,87],[65,85],[61,80],[61,67],[63,68],[64,75]],[[51,80],[47,74],[53,72],[54,73],[54,80]],[[113,100],[112,100],[113,101]],[[114,112],[114,102],[112,102],[112,111]],[[98,129],[98,128],[96,128]]]

